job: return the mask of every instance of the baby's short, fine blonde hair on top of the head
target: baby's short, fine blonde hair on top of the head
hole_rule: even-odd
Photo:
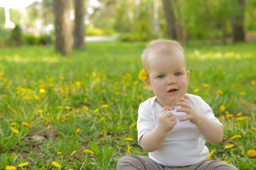
[[[164,39],[151,41],[150,44],[148,44],[148,46],[146,47],[146,49],[144,49],[142,52],[141,59],[142,59],[143,69],[146,71],[149,71],[147,68],[147,63],[148,63],[148,56],[150,55],[150,53],[152,52],[159,53],[159,54],[170,53],[173,50],[175,50],[175,48],[179,49],[183,53],[183,56],[185,59],[184,50],[181,47],[179,42],[174,40],[164,40]]]

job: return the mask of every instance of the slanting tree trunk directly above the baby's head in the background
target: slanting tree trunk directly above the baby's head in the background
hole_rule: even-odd
[[[175,22],[174,10],[170,0],[163,0],[164,11],[166,13],[167,35],[174,40],[177,40],[177,28]]]

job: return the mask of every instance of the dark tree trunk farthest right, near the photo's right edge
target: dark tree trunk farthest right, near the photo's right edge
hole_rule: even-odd
[[[234,11],[231,18],[233,41],[245,41],[245,32],[243,30],[243,18],[245,12],[245,0],[238,0],[238,10]]]

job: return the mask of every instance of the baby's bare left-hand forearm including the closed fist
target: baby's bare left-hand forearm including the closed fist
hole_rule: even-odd
[[[171,131],[177,124],[176,118],[171,111],[167,111],[164,107],[162,113],[158,117],[158,125],[141,137],[141,146],[146,152],[154,152],[163,143],[168,131]]]

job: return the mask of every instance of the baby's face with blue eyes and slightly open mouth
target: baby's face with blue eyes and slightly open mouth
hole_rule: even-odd
[[[147,88],[154,91],[160,105],[172,103],[175,107],[188,88],[189,71],[183,53],[175,48],[171,53],[151,53],[148,57]]]

